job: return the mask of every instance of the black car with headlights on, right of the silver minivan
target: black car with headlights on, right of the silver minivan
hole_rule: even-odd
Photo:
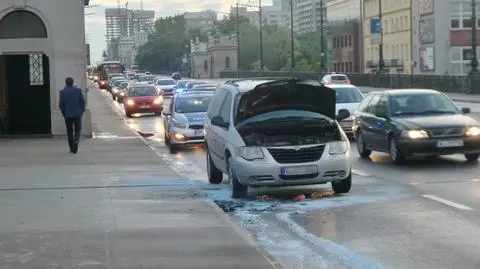
[[[352,127],[362,158],[372,151],[389,153],[395,163],[407,157],[480,155],[480,124],[465,115],[445,94],[435,90],[401,89],[373,92],[355,111]]]

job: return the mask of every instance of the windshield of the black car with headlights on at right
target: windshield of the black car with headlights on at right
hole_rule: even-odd
[[[458,114],[455,104],[443,94],[409,94],[390,97],[390,115]]]

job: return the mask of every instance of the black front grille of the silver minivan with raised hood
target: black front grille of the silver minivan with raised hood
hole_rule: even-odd
[[[308,148],[268,148],[272,157],[278,163],[307,163],[318,161],[323,154],[325,145]]]

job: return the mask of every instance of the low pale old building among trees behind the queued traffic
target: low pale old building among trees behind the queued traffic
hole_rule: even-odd
[[[220,72],[237,70],[235,38],[209,35],[208,42],[198,38],[190,44],[191,73],[194,78],[219,78]]]

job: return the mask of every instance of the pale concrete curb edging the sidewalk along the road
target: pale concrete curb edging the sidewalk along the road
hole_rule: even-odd
[[[100,90],[100,89],[96,89],[96,90]],[[127,126],[127,128],[132,132],[134,133],[135,136],[137,136],[140,140],[142,140],[143,143],[145,143],[145,145],[150,149],[152,150],[160,159],[164,160],[164,157],[159,154],[157,152],[157,150],[150,145],[150,143],[148,142],[147,139],[145,139],[144,137],[142,137],[138,132],[137,130],[133,129],[132,127],[130,127],[128,124],[127,124],[127,121],[125,120],[125,118],[120,114],[120,111],[118,111],[118,109],[115,107],[114,104],[112,104],[112,102],[108,102],[109,100],[106,100],[107,101],[108,105],[112,108],[112,110],[123,120],[124,124]],[[202,194],[203,197],[205,197],[204,194]],[[225,221],[228,225],[230,225],[234,230],[235,232],[250,246],[252,246],[253,248],[255,248],[255,250],[260,254],[262,255],[269,263],[270,265],[275,268],[275,269],[286,269],[285,267],[283,267],[272,255],[270,255],[270,253],[268,253],[259,243],[257,243],[255,240],[253,240],[250,235],[240,226],[238,225],[237,223],[235,223],[233,221],[233,219],[228,216],[227,214],[225,214],[225,212],[217,205],[215,204],[213,201],[211,200],[203,200],[203,202],[205,204],[207,204],[209,207],[211,207],[215,213],[223,220]]]

